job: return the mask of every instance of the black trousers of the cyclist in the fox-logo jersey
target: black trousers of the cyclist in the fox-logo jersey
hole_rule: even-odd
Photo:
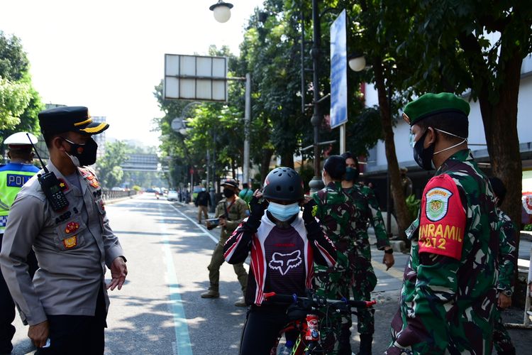
[[[290,320],[287,307],[251,306],[240,342],[240,355],[270,355],[279,331]]]

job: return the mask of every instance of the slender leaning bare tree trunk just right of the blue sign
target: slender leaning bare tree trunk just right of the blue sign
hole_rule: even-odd
[[[401,186],[401,176],[399,173],[399,163],[397,163],[397,154],[395,153],[394,129],[392,126],[392,112],[389,109],[389,97],[387,89],[384,87],[384,73],[382,62],[377,58],[373,64],[375,72],[375,86],[379,97],[379,111],[382,121],[382,130],[384,131],[384,147],[386,150],[386,160],[388,162],[389,181],[394,199],[394,207],[399,227],[399,236],[406,239],[404,231],[409,227],[409,212],[406,208],[403,188]],[[390,211],[387,211],[388,213]]]

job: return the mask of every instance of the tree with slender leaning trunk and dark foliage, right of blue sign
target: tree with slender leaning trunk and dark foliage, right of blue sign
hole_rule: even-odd
[[[404,192],[401,188],[399,163],[395,153],[394,125],[397,120],[399,105],[404,102],[401,97],[401,82],[408,75],[408,68],[403,58],[396,55],[397,32],[404,30],[404,23],[395,23],[393,26],[389,20],[389,13],[384,11],[382,1],[360,1],[353,4],[350,1],[341,1],[348,12],[348,48],[354,53],[364,53],[370,69],[361,73],[359,80],[373,82],[377,89],[379,102],[379,124],[375,124],[375,109],[364,111],[358,116],[357,124],[367,119],[372,119],[371,126],[379,127],[382,131],[355,131],[356,138],[367,141],[370,144],[376,142],[376,138],[384,138],[384,148],[388,163],[388,175],[390,189],[394,200],[394,211],[397,217],[399,231],[404,231],[409,225],[409,212],[406,207]],[[399,5],[398,5],[399,6]],[[378,21],[376,20],[378,19]],[[395,92],[395,93],[394,93]],[[372,134],[368,134],[372,133]],[[348,143],[349,144],[349,143]],[[404,237],[404,234],[401,234]]]

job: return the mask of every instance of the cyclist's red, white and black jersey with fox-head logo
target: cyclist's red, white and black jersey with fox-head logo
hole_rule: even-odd
[[[314,263],[330,267],[336,263],[334,244],[319,223],[305,225],[301,216],[300,212],[277,226],[265,211],[260,221],[244,219],[226,242],[228,263],[242,263],[251,251],[248,305],[261,305],[268,292],[304,296],[312,288]]]

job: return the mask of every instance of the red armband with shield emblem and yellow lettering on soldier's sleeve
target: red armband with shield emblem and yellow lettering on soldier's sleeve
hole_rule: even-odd
[[[423,190],[419,223],[419,253],[460,260],[465,233],[465,211],[458,187],[449,175],[432,178]]]

